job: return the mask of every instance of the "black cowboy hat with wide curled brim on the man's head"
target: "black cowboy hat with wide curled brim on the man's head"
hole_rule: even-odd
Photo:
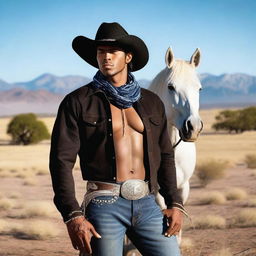
[[[137,36],[129,35],[118,23],[102,23],[97,31],[95,40],[77,36],[72,43],[74,51],[86,62],[99,68],[96,55],[99,45],[111,45],[132,52],[132,71],[143,68],[148,62],[148,49]]]

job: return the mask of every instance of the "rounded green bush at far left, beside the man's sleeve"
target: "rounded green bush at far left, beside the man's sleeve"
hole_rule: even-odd
[[[50,138],[45,124],[33,113],[14,116],[8,124],[7,133],[14,144],[29,145]]]

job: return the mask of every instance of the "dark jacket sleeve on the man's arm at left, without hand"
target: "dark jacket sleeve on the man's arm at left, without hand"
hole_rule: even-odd
[[[68,95],[64,98],[59,106],[51,136],[50,172],[55,194],[54,203],[64,221],[70,219],[72,213],[81,215],[72,174],[80,148],[77,105],[74,97],[72,99]]]

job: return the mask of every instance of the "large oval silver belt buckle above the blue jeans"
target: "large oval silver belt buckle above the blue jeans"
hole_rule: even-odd
[[[148,194],[148,185],[143,180],[131,179],[121,185],[120,192],[127,200],[138,200]]]

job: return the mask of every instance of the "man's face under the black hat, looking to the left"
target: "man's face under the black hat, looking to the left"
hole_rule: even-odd
[[[127,76],[127,64],[132,60],[131,53],[125,53],[117,46],[98,46],[97,62],[101,73],[112,80],[117,75]]]

